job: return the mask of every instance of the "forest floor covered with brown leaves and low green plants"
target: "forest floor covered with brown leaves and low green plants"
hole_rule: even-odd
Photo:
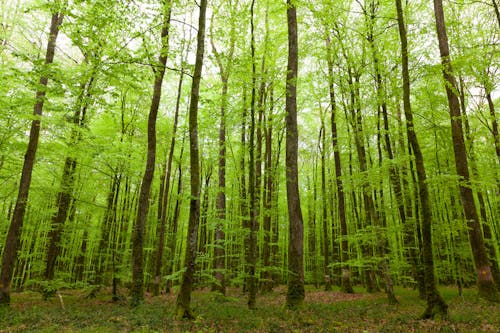
[[[108,290],[94,299],[84,290],[61,291],[61,298],[43,301],[36,292],[12,293],[11,307],[0,309],[0,332],[500,332],[500,305],[477,297],[474,289],[458,296],[440,288],[449,305],[449,318],[419,320],[425,302],[417,292],[396,288],[398,306],[387,304],[383,293],[361,289],[349,295],[307,288],[298,311],[283,307],[286,289],[259,295],[256,310],[248,310],[241,289],[226,297],[195,291],[197,318],[175,320],[175,295],[146,296],[131,309],[111,301]],[[125,291],[124,291],[125,292]]]

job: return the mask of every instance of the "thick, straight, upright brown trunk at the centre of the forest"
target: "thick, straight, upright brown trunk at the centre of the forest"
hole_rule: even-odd
[[[304,222],[300,207],[298,182],[298,139],[297,129],[297,75],[299,47],[297,38],[297,9],[295,3],[287,0],[288,23],[288,66],[286,77],[286,194],[289,218],[288,240],[288,290],[286,306],[294,309],[305,297],[304,291]]]

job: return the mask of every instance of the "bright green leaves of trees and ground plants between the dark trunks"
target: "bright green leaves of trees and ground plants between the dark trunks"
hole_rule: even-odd
[[[47,39],[47,26],[54,6],[66,5],[66,18],[61,27],[55,63],[43,66],[43,50]],[[38,288],[53,293],[55,290],[81,289],[94,285],[97,271],[103,270],[102,285],[110,286],[112,278],[123,286],[130,280],[130,236],[136,215],[136,203],[142,181],[147,141],[146,123],[151,99],[151,82],[154,79],[155,56],[159,52],[158,40],[162,1],[7,1],[0,4],[0,244],[5,244],[8,221],[15,205],[19,171],[26,151],[27,133],[35,101],[35,90],[39,86],[41,73],[49,74],[50,81],[42,117],[42,134],[37,161],[30,189],[28,210],[25,215],[23,233],[20,236],[18,266],[13,287]],[[227,5],[227,4],[230,5]],[[394,25],[395,8],[390,1],[374,1],[373,17],[364,15],[363,10],[372,3],[366,1],[296,1],[299,14],[300,73],[298,78],[299,116],[299,181],[305,220],[305,278],[308,282],[323,281],[325,264],[324,248],[329,251],[331,277],[341,277],[340,268],[349,266],[355,283],[362,283],[365,270],[376,267],[382,258],[387,258],[390,276],[396,285],[415,285],[415,262],[422,253],[419,244],[421,203],[418,199],[418,185],[415,180],[415,160],[409,152],[405,131],[406,119],[402,114],[402,87],[399,75],[400,50],[397,27]],[[264,132],[272,128],[271,144],[273,170],[273,200],[271,208],[260,209],[258,233],[260,256],[257,260],[259,283],[286,282],[288,249],[288,212],[286,210],[285,178],[285,85],[287,31],[284,1],[256,1],[256,77],[251,75],[249,50],[249,1],[214,0],[210,3],[211,31],[207,39],[213,39],[224,67],[230,69],[228,100],[226,110],[226,188],[227,216],[223,221],[225,242],[214,245],[214,231],[218,224],[215,219],[216,196],[221,190],[217,184],[216,165],[218,163],[218,112],[221,97],[220,69],[211,43],[207,42],[207,60],[204,64],[200,92],[200,154],[202,174],[212,171],[207,205],[207,249],[197,262],[197,278],[200,286],[213,282],[214,249],[223,247],[226,251],[226,274],[229,286],[242,287],[248,274],[245,272],[244,237],[247,228],[243,226],[248,217],[243,206],[248,206],[242,193],[242,179],[248,182],[248,115],[246,127],[243,111],[248,113],[252,79],[258,88],[261,84],[264,114]],[[165,262],[172,264],[167,272],[163,267],[162,284],[172,283],[173,289],[180,281],[183,269],[182,259],[186,248],[187,212],[189,210],[189,149],[186,135],[186,110],[189,106],[188,91],[193,70],[196,4],[191,1],[174,1],[171,35],[169,36],[169,67],[163,84],[163,96],[157,122],[157,161],[153,180],[150,209],[145,238],[146,283],[152,282],[155,251],[159,235],[158,202],[160,197],[160,177],[163,161],[167,158],[168,143],[172,137],[173,114],[176,107],[179,72],[184,71],[184,84],[180,91],[180,117],[177,131],[177,146],[173,152],[173,174],[170,179],[167,198],[168,250]],[[498,188],[500,169],[496,156],[491,116],[486,101],[486,92],[492,93],[498,118],[498,33],[495,30],[493,9],[485,2],[458,1],[446,4],[446,18],[450,36],[453,66],[464,85],[464,108],[470,123],[470,137],[467,138],[469,158],[475,159],[471,166],[471,187],[485,198],[485,218],[483,226],[492,230],[488,244],[493,254],[499,257],[500,234],[497,221]],[[412,108],[415,114],[415,132],[423,150],[427,184],[430,191],[433,217],[433,244],[435,273],[439,283],[465,286],[476,282],[476,272],[472,261],[472,251],[468,242],[468,229],[460,204],[458,184],[450,136],[450,119],[447,100],[441,78],[441,65],[437,57],[437,42],[434,36],[432,9],[428,1],[409,1],[405,5],[405,15],[409,33],[409,58],[412,85]],[[210,19],[210,18],[209,18]],[[374,63],[371,55],[369,32],[373,29],[374,50],[378,53],[378,67],[382,82],[382,98],[375,84]],[[331,137],[330,91],[327,68],[326,41],[329,40],[333,68],[333,89],[335,92],[335,117],[337,122],[337,144],[342,164],[342,180],[346,197],[346,217],[348,235],[340,235],[338,198],[335,186],[333,141]],[[234,40],[234,53],[229,54],[230,41]],[[59,43],[60,42],[60,43]],[[265,60],[265,61],[263,61]],[[353,83],[353,76],[359,82]],[[81,99],[86,106],[86,120],[83,126],[70,124],[68,120],[79,107],[82,85],[94,77],[92,86]],[[352,93],[359,89],[356,96]],[[271,99],[271,91],[273,98]],[[257,95],[260,91],[257,92]],[[354,98],[352,100],[351,98]],[[356,111],[359,99],[360,125],[353,122],[352,112]],[[381,99],[388,112],[388,136],[393,147],[394,158],[389,160],[380,116]],[[257,101],[259,104],[259,101]],[[272,115],[271,115],[272,108]],[[496,112],[496,113],[495,113]],[[321,117],[325,121],[326,147],[319,147],[318,134]],[[241,143],[241,134],[246,130],[246,145]],[[76,131],[76,132],[75,132]],[[76,143],[72,133],[80,137]],[[266,132],[267,133],[267,132]],[[366,149],[367,166],[360,166],[356,140]],[[265,143],[265,139],[264,139]],[[380,147],[380,151],[379,151]],[[265,147],[262,147],[264,151]],[[183,156],[181,157],[181,149]],[[321,184],[321,150],[326,157],[326,184]],[[57,193],[60,190],[63,164],[67,157],[77,161],[75,186],[71,198],[71,213],[65,221],[61,253],[56,268],[56,280],[43,281],[41,276],[46,264],[48,234],[51,219],[57,211]],[[245,169],[241,162],[245,161]],[[397,181],[402,187],[403,208],[406,216],[402,223],[398,207],[398,197],[391,183],[391,170],[396,169]],[[179,171],[180,170],[180,171]],[[266,170],[261,169],[263,176]],[[182,172],[182,176],[180,176]],[[181,181],[177,188],[177,181]],[[263,183],[261,179],[261,183]],[[118,184],[118,185],[117,185]],[[325,194],[322,193],[325,185]],[[115,186],[115,188],[113,188]],[[248,186],[248,183],[247,183]],[[248,188],[246,189],[248,190]],[[262,185],[259,194],[264,195]],[[179,194],[178,194],[179,193]],[[247,192],[248,194],[248,192]],[[368,209],[364,194],[373,199],[376,217],[366,216]],[[109,200],[111,196],[111,201]],[[323,204],[325,199],[326,204]],[[173,217],[176,201],[179,200],[178,228],[173,231]],[[308,205],[308,209],[304,209]],[[326,205],[326,221],[322,208]],[[264,264],[263,249],[265,236],[263,217],[271,215],[272,230],[267,245],[272,248],[271,263]],[[205,216],[204,216],[205,217]],[[327,235],[323,234],[322,223],[327,223]],[[108,229],[107,229],[108,228]],[[173,237],[175,236],[175,238]],[[328,244],[323,244],[324,236]],[[175,242],[174,242],[175,239]],[[349,260],[341,262],[342,241],[348,243]],[[103,248],[101,248],[103,247]],[[410,252],[414,251],[413,254]],[[493,258],[494,255],[490,256]],[[266,275],[268,274],[268,275]],[[335,281],[337,283],[338,281]],[[383,279],[379,277],[382,285]],[[100,284],[99,284],[100,285]],[[405,292],[405,291],[402,291]],[[276,294],[274,294],[276,296]],[[399,295],[398,295],[399,296]],[[406,294],[405,294],[406,296]],[[202,296],[204,297],[204,296]],[[470,297],[468,294],[467,297]],[[206,301],[206,302],[205,302]],[[464,300],[467,302],[469,300]],[[474,300],[475,301],[475,300]],[[205,302],[205,303],[203,303]],[[189,324],[168,326],[177,330],[203,330],[201,323],[208,318],[219,318],[215,311],[229,322],[238,319],[242,311],[235,299],[220,301],[224,307],[206,306],[217,299],[205,299],[196,309],[200,321],[193,327]],[[417,302],[415,300],[415,302]],[[147,311],[159,315],[161,311],[173,318],[173,312],[159,306],[153,309],[144,304],[137,309],[137,317],[128,321],[118,312],[110,318],[112,330],[159,330],[162,325],[148,317]],[[227,307],[225,307],[227,305]],[[281,306],[282,304],[280,304]],[[353,307],[354,315],[364,316],[363,307]],[[308,308],[310,307],[310,308]],[[326,306],[325,306],[326,307]],[[457,306],[458,307],[458,306]],[[97,308],[93,308],[94,310]],[[205,309],[209,308],[209,309]],[[315,311],[334,318],[334,329],[346,329],[347,321],[342,316],[337,319],[333,311],[343,312],[344,305],[335,304],[332,311],[323,305],[306,305],[303,321],[293,317],[293,327],[287,326],[287,312],[265,308],[275,316],[275,321],[267,320],[258,312],[258,320],[251,322],[248,313],[242,317],[243,330],[280,331],[290,328],[327,331],[326,320],[321,324],[311,324]],[[420,312],[420,308],[408,309]],[[459,308],[459,307],[458,307]],[[146,310],[145,310],[146,309]],[[34,311],[33,321],[28,320],[25,329],[40,319],[43,309]],[[108,310],[108,309],[106,309]],[[123,309],[119,309],[123,310]],[[272,310],[272,311],[271,311]],[[311,311],[311,313],[307,311]],[[380,316],[387,316],[381,307]],[[450,312],[453,316],[451,308]],[[81,309],[81,311],[85,312]],[[111,310],[109,310],[111,311]],[[143,311],[143,312],[141,312]],[[208,312],[204,312],[208,311]],[[213,313],[210,311],[214,311]],[[260,311],[260,310],[258,310]],[[278,311],[278,312],[276,312]],[[376,309],[371,309],[375,316]],[[410,310],[408,310],[410,311]],[[45,313],[49,315],[48,313]],[[82,314],[83,322],[91,319]],[[127,313],[129,315],[129,313]],[[38,316],[38,317],[37,317]],[[260,317],[259,317],[260,316]],[[280,317],[282,316],[282,317]],[[347,316],[347,315],[346,315]],[[467,316],[467,315],[465,315]],[[248,318],[247,318],[248,317]],[[51,317],[52,318],[52,317]],[[76,317],[74,317],[76,318]],[[73,319],[74,319],[73,318]],[[114,318],[114,319],[113,319]],[[478,319],[479,317],[474,317]],[[71,320],[73,320],[71,319]],[[54,319],[55,320],[55,319]],[[479,320],[479,319],[478,319]],[[57,322],[57,320],[55,320]],[[215,319],[214,319],[215,322]],[[91,323],[91,322],[90,322]],[[58,330],[63,322],[47,328]],[[377,329],[390,331],[390,325],[413,325],[411,329],[426,330],[415,324],[415,318],[402,314],[391,317],[387,327]],[[76,325],[76,324],[75,324]],[[128,326],[127,326],[128,325]],[[177,324],[176,324],[177,325]],[[217,331],[214,323],[207,330]],[[446,324],[447,325],[447,324]],[[443,330],[452,329],[451,324],[443,324]],[[424,325],[425,326],[425,325]],[[446,327],[445,327],[446,326]],[[78,326],[82,328],[83,324]],[[75,330],[77,326],[74,327]],[[71,328],[69,328],[71,329]],[[97,328],[96,328],[97,329]],[[361,328],[360,328],[361,329]],[[23,328],[19,328],[23,330]]]

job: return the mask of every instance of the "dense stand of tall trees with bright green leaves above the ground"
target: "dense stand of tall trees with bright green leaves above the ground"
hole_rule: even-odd
[[[0,304],[500,300],[497,0],[4,0]],[[306,287],[305,287],[306,286]],[[438,288],[439,287],[439,288]],[[362,288],[362,289],[360,289]],[[332,291],[333,292],[333,291]]]

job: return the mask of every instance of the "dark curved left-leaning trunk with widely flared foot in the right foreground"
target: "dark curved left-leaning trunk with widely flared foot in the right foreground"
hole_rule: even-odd
[[[422,315],[423,318],[433,318],[436,315],[446,317],[448,306],[436,288],[434,277],[434,259],[432,256],[432,212],[427,189],[427,175],[424,167],[424,158],[415,133],[413,113],[410,103],[410,72],[408,67],[408,39],[406,25],[403,16],[401,0],[396,0],[399,37],[401,40],[401,67],[403,76],[403,109],[406,117],[406,132],[408,141],[415,155],[415,164],[418,178],[418,195],[422,208],[422,238],[423,238],[423,264],[425,292],[427,297],[427,308]]]

